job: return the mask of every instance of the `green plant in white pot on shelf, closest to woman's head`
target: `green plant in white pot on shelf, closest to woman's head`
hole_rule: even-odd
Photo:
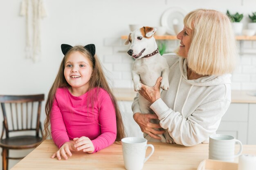
[[[232,27],[233,27],[234,33],[236,35],[240,35],[242,33],[242,29],[243,29],[243,23],[240,21],[243,19],[244,15],[242,13],[239,14],[238,12],[235,14],[231,14],[229,12],[229,10],[227,10],[226,14],[232,22]]]

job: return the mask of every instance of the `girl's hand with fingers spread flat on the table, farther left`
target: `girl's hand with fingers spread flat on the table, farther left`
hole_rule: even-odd
[[[58,160],[61,160],[61,156],[62,156],[65,160],[67,160],[67,155],[70,157],[72,156],[72,153],[70,152],[72,150],[76,150],[76,148],[74,147],[74,144],[71,141],[65,142],[61,146],[61,148],[52,155],[51,158],[57,157]]]

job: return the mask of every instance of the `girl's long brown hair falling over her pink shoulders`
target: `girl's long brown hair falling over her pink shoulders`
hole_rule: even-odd
[[[108,94],[110,95],[110,98],[112,100],[112,104],[115,107],[115,112],[116,112],[116,121],[117,121],[117,138],[116,141],[121,141],[122,138],[124,138],[124,124],[122,121],[121,113],[119,110],[119,106],[117,104],[117,99],[112,93],[112,90],[110,89],[108,82],[106,80],[105,74],[102,70],[101,63],[97,57],[97,55],[92,56],[86,49],[83,48],[83,46],[74,46],[72,47],[66,55],[63,57],[63,60],[61,62],[60,68],[58,70],[57,77],[54,80],[54,83],[49,91],[47,101],[45,104],[45,113],[46,113],[46,119],[44,123],[44,132],[43,132],[43,138],[46,139],[49,136],[49,124],[50,124],[50,114],[52,110],[52,104],[54,102],[55,98],[55,93],[57,88],[61,87],[70,87],[70,85],[67,83],[65,77],[64,77],[64,68],[65,68],[65,63],[67,60],[67,57],[74,51],[79,51],[85,57],[90,60],[91,66],[92,66],[92,78],[90,79],[90,85],[88,91],[92,90],[93,88],[97,88],[97,94],[90,94],[90,102],[93,104],[94,99],[98,98],[98,91],[99,88],[103,88]]]

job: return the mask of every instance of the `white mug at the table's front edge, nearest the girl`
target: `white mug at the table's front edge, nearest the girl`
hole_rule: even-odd
[[[125,137],[121,142],[126,170],[141,170],[155,150],[153,145],[147,144],[147,139],[141,137]],[[148,147],[151,148],[151,152],[145,158]]]

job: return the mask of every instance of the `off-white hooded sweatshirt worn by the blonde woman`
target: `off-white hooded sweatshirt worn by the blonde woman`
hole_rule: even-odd
[[[207,143],[209,135],[216,132],[221,117],[231,103],[230,74],[187,79],[186,59],[175,55],[164,55],[169,65],[169,84],[150,108],[157,114],[160,126],[166,130],[156,140],[144,136],[151,142],[167,142],[193,146]],[[133,113],[141,113],[138,96],[132,103]]]

